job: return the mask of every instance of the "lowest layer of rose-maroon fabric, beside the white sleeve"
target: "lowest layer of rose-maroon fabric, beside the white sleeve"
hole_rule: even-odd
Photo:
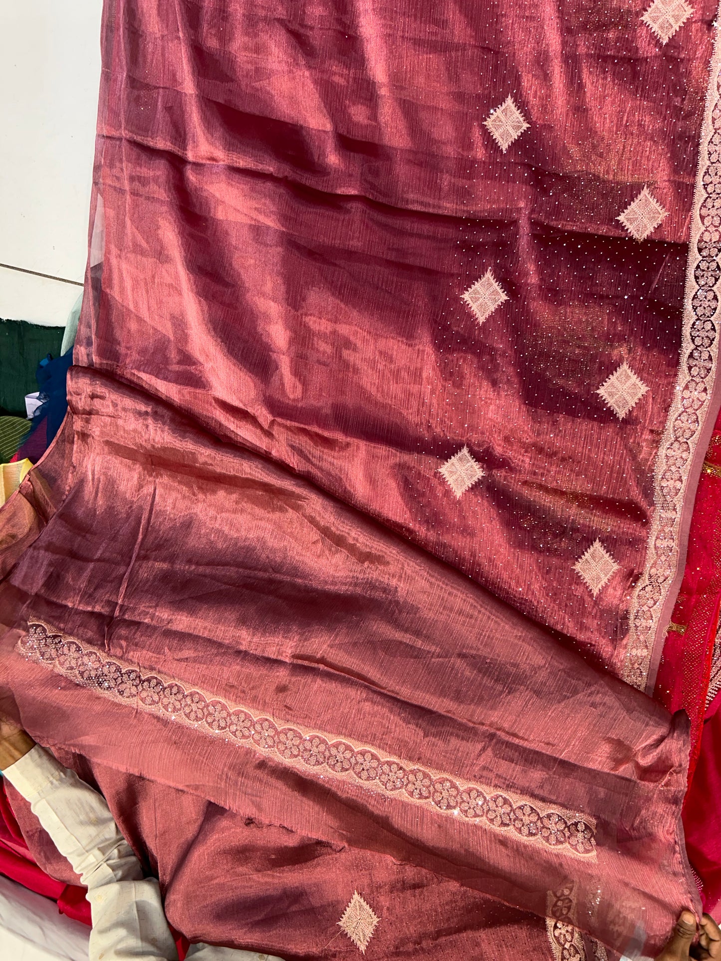
[[[290,939],[294,956],[311,958],[319,949],[320,917],[328,942],[320,950],[352,957],[358,949],[335,924],[337,899],[326,882],[332,874],[343,895],[350,885],[348,899],[356,885],[366,894],[373,892],[377,908],[393,905],[396,913],[384,912],[385,924],[372,942],[379,956],[388,956],[382,953],[388,950],[423,951],[418,942],[431,924],[442,927],[436,936],[440,944],[435,945],[441,956],[452,957],[455,951],[458,957],[464,950],[485,956],[499,929],[517,939],[529,956],[543,957],[548,951],[545,925],[532,915],[443,875],[390,856],[296,835],[286,827],[263,825],[177,788],[97,763],[90,768],[77,756],[64,755],[63,762],[100,786],[147,870],[160,878],[168,920],[182,924],[191,941],[201,940],[211,928],[216,943],[232,947],[242,930],[251,949],[280,954],[285,941],[288,953]],[[32,815],[21,799],[18,817],[24,828],[33,830]],[[56,860],[47,837],[40,850],[49,864]],[[187,898],[190,890],[192,899]],[[413,931],[404,923],[422,915],[429,904],[434,911],[431,924],[421,923]]]

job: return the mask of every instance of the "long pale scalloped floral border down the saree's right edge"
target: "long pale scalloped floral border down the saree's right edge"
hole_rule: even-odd
[[[699,165],[691,210],[681,363],[654,471],[654,505],[646,563],[629,610],[622,678],[646,687],[664,602],[679,564],[684,495],[693,452],[709,412],[716,376],[716,316],[721,276],[721,39],[709,65]]]

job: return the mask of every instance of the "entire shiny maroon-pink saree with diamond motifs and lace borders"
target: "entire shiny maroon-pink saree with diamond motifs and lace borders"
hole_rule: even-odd
[[[597,961],[698,907],[644,692],[719,407],[714,15],[107,0],[0,677],[190,940]]]

